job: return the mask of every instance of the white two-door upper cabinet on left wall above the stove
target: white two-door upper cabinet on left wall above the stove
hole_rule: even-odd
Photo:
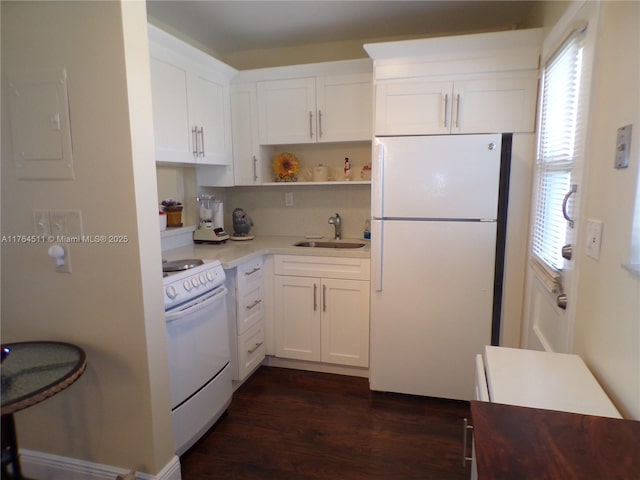
[[[156,161],[230,165],[235,70],[149,26]]]

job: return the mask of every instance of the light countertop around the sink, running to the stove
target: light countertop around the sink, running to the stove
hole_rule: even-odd
[[[340,242],[362,242],[362,248],[317,248],[294,247],[300,241],[333,241],[331,238],[308,239],[291,236],[256,236],[253,240],[227,240],[219,245],[193,244],[162,252],[163,260],[180,260],[184,258],[200,258],[202,260],[219,260],[225,269],[235,268],[253,257],[267,254],[312,255],[323,257],[370,258],[368,240],[344,238]]]

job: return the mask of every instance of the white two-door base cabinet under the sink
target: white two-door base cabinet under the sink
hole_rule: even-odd
[[[369,260],[275,257],[276,355],[369,365]]]

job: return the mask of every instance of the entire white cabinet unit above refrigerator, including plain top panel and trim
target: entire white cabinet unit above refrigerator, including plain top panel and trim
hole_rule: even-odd
[[[375,135],[532,132],[540,29],[369,44]]]

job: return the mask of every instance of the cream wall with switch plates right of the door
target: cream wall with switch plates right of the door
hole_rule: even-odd
[[[604,227],[600,260],[578,258],[574,350],[623,415],[640,420],[640,279],[622,267],[630,257],[640,163],[640,2],[602,2],[601,9],[581,224],[596,219]],[[627,124],[630,166],[618,170],[616,130]]]

